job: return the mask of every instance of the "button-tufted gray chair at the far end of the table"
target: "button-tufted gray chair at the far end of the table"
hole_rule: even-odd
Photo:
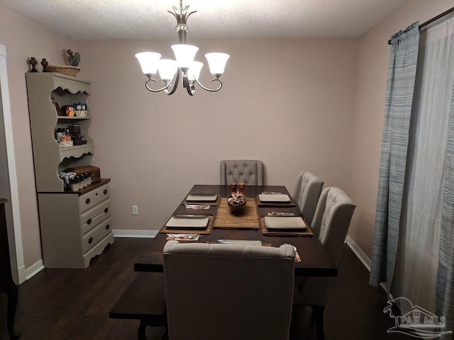
[[[262,167],[262,161],[253,159],[223,160],[221,161],[221,186],[228,186],[232,182],[262,186]]]

